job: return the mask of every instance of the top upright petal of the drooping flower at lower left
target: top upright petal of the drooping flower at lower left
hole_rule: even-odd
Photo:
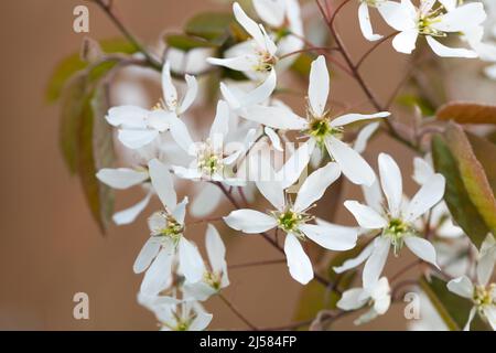
[[[175,194],[174,183],[168,167],[158,159],[152,159],[148,162],[148,168],[153,189],[160,201],[172,212],[177,204],[177,195]]]

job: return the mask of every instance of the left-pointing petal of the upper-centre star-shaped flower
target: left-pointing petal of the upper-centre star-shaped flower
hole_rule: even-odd
[[[252,106],[240,115],[248,120],[282,130],[304,130],[308,121],[281,107]]]

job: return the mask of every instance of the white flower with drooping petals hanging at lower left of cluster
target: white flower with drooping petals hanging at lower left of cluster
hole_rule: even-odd
[[[149,162],[149,172],[153,189],[165,210],[155,212],[148,220],[151,237],[138,255],[133,270],[140,274],[148,268],[141,291],[153,296],[170,286],[176,258],[179,271],[192,284],[202,279],[204,264],[198,249],[183,235],[187,197],[177,204],[172,176],[159,160]]]

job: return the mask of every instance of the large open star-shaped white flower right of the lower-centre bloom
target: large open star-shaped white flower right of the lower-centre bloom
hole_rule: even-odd
[[[410,202],[403,202],[401,172],[398,164],[389,154],[385,153],[379,154],[378,161],[380,182],[388,207],[378,212],[377,208],[357,201],[346,201],[344,205],[354,215],[362,228],[376,231],[379,236],[357,258],[347,260],[343,266],[335,269],[341,272],[366,260],[363,272],[364,287],[378,280],[391,245],[395,255],[398,255],[402,246],[406,245],[422,260],[438,267],[434,247],[427,239],[418,236],[414,222],[442,200],[445,185],[444,176],[441,174],[432,175]]]

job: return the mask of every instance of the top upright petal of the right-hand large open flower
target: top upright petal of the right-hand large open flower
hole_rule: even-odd
[[[398,217],[403,197],[401,171],[391,156],[380,153],[379,158],[380,184],[388,201],[392,217]]]

